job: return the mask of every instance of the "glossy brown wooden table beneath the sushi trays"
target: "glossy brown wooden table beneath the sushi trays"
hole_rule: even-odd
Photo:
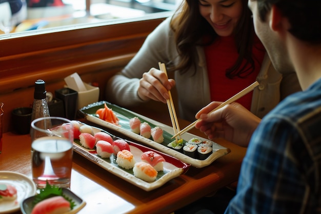
[[[188,124],[180,121],[182,127]],[[198,129],[190,132],[204,137]],[[148,192],[74,152],[71,190],[87,203],[78,213],[171,213],[236,181],[246,149],[225,140],[215,142],[230,148],[231,152],[207,167],[190,167],[186,174]],[[0,170],[20,172],[31,178],[30,148],[29,134],[4,133]]]

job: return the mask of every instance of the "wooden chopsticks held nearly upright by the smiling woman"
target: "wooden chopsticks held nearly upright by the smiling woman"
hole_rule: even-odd
[[[158,66],[159,66],[159,70],[163,71],[167,75],[165,64],[159,62]],[[167,77],[168,77],[168,75],[167,75]],[[179,124],[178,124],[178,120],[177,120],[177,116],[176,116],[176,111],[175,111],[171,91],[168,91],[168,94],[169,94],[169,99],[167,100],[167,107],[168,107],[169,115],[170,115],[171,122],[172,122],[173,129],[174,129],[175,140],[178,141],[180,139],[180,134],[177,134],[180,131]]]

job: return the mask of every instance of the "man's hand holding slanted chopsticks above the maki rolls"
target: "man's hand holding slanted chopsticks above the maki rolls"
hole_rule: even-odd
[[[211,102],[199,110],[195,118],[201,120],[195,124],[195,128],[204,132],[210,140],[224,138],[247,147],[260,119],[236,102],[209,113],[221,103]]]

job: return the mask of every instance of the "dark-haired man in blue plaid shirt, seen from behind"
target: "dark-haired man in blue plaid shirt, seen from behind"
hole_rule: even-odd
[[[249,0],[255,32],[280,73],[295,70],[302,92],[262,121],[237,103],[196,114],[210,139],[247,146],[226,213],[321,213],[321,1]],[[208,113],[208,114],[207,114]]]

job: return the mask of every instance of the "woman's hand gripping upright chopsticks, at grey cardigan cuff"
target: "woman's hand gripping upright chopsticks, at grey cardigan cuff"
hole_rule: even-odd
[[[168,91],[175,85],[173,79],[168,79],[167,75],[156,68],[151,68],[143,74],[139,80],[138,96],[144,101],[155,100],[166,103],[169,99]]]

